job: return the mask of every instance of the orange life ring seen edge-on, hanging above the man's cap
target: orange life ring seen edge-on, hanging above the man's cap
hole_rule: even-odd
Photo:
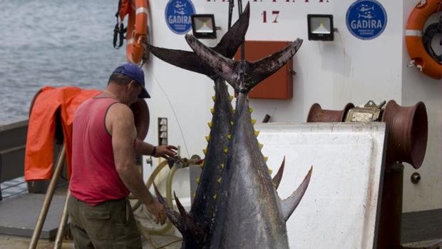
[[[126,59],[139,64],[143,59],[146,34],[148,33],[148,1],[135,0],[135,9],[131,9],[126,33]]]

